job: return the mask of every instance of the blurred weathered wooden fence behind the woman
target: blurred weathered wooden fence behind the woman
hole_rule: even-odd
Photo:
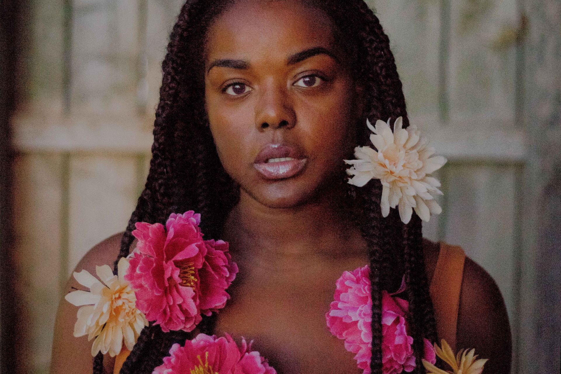
[[[389,34],[412,121],[449,160],[437,176],[443,213],[425,236],[461,245],[498,283],[513,372],[559,372],[561,3],[367,2]],[[10,127],[20,372],[48,371],[62,285],[135,207],[181,4],[22,7],[23,99]]]

